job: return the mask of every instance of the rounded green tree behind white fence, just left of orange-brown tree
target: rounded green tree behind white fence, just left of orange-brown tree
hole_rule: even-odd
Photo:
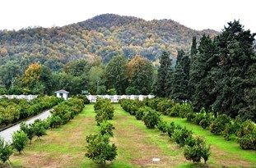
[[[106,84],[109,89],[116,89],[124,94],[128,86],[127,60],[123,56],[113,57],[106,66]]]

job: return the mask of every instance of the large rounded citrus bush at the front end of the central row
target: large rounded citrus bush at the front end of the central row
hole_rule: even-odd
[[[98,164],[105,164],[106,161],[113,161],[117,156],[117,148],[109,144],[109,136],[91,134],[86,137],[86,157]]]

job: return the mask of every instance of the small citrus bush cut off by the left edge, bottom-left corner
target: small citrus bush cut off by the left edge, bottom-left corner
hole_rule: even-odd
[[[0,137],[0,159],[3,163],[9,161],[13,152],[12,145],[6,143],[2,137]]]

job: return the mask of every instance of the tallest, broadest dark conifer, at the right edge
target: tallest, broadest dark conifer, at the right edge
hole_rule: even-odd
[[[254,91],[255,86],[249,75],[255,68],[254,35],[235,20],[216,38],[219,67],[213,71],[217,91],[213,108],[217,112],[235,117],[238,113],[245,115],[244,109],[249,107],[245,93]]]

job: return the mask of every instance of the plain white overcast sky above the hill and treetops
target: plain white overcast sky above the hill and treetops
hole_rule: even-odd
[[[220,31],[240,19],[256,32],[256,0],[1,0],[0,30],[62,26],[114,13],[145,20],[172,19],[194,30]]]

